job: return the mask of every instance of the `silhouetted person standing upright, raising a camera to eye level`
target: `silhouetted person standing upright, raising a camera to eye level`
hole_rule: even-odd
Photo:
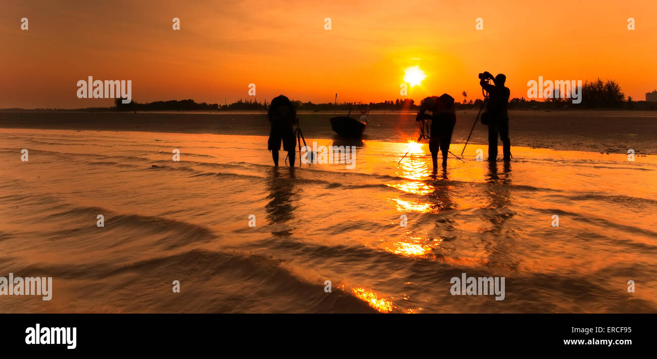
[[[481,77],[481,76],[480,76]],[[491,79],[495,85],[491,85],[486,80]],[[504,160],[511,159],[511,140],[509,140],[509,113],[507,104],[509,103],[510,91],[505,87],[507,76],[498,74],[493,77],[489,72],[484,72],[479,84],[487,91],[488,104],[484,116],[489,119],[488,125],[488,160],[497,160],[497,136],[502,140]]]

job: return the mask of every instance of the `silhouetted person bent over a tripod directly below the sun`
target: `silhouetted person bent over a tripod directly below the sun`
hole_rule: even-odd
[[[424,114],[431,111],[432,115]],[[447,154],[451,135],[456,123],[456,114],[454,112],[454,98],[443,93],[440,97],[430,96],[420,102],[420,110],[415,117],[415,121],[431,118],[431,130],[429,140],[429,151],[431,159],[434,162],[434,174],[438,170],[438,149],[443,153],[443,167],[447,167]],[[420,123],[421,125],[421,123]]]

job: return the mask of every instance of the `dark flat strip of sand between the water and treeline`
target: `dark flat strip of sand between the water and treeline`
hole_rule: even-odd
[[[452,143],[466,142],[477,113],[457,111]],[[304,136],[336,137],[328,121],[332,115],[299,112]],[[512,146],[616,154],[630,149],[635,154],[654,154],[657,149],[657,113],[511,110],[509,115]],[[0,112],[0,128],[269,135],[263,112]],[[418,134],[415,113],[373,113],[363,140],[409,142]],[[478,121],[469,142],[487,144],[487,127]]]

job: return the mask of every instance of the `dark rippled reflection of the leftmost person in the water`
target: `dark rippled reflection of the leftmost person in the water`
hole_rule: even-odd
[[[267,180],[269,202],[265,205],[265,211],[267,211],[267,220],[273,226],[271,234],[288,237],[292,235],[292,229],[284,224],[294,219],[294,209],[296,209],[292,204],[296,182],[294,167],[290,167],[289,177],[281,175],[279,171],[281,171],[279,167],[273,167],[271,176]]]

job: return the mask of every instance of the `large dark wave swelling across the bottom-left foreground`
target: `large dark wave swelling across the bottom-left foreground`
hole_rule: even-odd
[[[162,278],[178,279],[182,293],[194,293],[194,287],[198,286],[203,289],[202,298],[214,303],[212,306],[208,303],[202,310],[187,308],[192,312],[376,312],[367,303],[341,289],[335,288],[332,293],[325,293],[323,282],[300,278],[284,268],[281,261],[243,253],[194,249],[122,265],[29,264],[13,268],[12,272],[15,276],[51,276],[54,283],[72,278],[78,283],[91,282],[95,284],[93,292],[86,293],[89,285],[85,285],[78,289],[78,295],[93,294],[105,301],[127,301],[131,308],[127,311],[135,312],[168,311],[168,306],[163,304],[168,301],[162,301],[162,295],[144,296],[144,292],[150,293],[154,287],[162,288],[163,284],[168,287],[160,289],[162,293],[171,293],[172,283],[163,282]],[[99,286],[103,282],[114,285]],[[116,287],[126,290],[115,293]],[[120,298],[115,299],[118,295]]]

